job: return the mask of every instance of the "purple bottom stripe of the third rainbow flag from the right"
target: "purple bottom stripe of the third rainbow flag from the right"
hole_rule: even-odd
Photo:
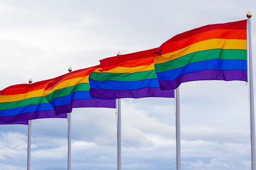
[[[54,109],[56,114],[71,113],[72,108],[79,107],[106,107],[116,108],[116,100],[102,100],[102,99],[84,99],[72,100],[71,104],[56,106]]]

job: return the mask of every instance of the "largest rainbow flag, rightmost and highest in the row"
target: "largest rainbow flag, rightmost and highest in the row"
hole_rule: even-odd
[[[155,51],[161,90],[196,80],[247,81],[246,20],[178,34]]]

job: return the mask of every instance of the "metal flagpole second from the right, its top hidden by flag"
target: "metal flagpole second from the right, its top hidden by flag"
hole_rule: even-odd
[[[176,100],[176,170],[180,170],[180,87],[175,90],[175,100]]]

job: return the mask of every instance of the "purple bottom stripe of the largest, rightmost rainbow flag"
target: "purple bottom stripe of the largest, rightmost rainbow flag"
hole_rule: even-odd
[[[179,76],[175,80],[159,80],[161,90],[176,89],[181,83],[197,80],[240,80],[247,81],[247,71],[244,70],[202,70]]]

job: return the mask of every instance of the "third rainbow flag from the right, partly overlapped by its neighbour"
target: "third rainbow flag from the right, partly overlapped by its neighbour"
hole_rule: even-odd
[[[69,72],[48,84],[44,95],[57,115],[71,113],[72,108],[78,107],[116,108],[115,100],[102,100],[90,96],[88,77],[97,68],[100,68],[100,65]]]

